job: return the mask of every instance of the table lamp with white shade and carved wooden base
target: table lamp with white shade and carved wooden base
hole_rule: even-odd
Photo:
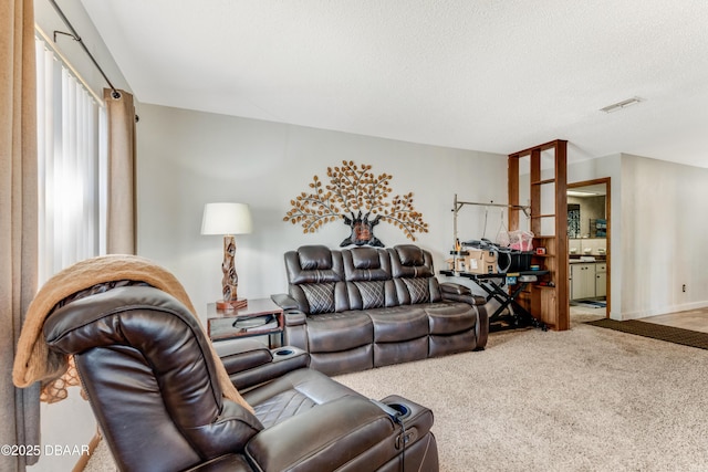
[[[238,310],[247,305],[246,298],[239,298],[237,289],[239,277],[236,273],[235,234],[251,232],[251,211],[246,203],[207,203],[204,206],[201,234],[223,234],[223,263],[221,271],[221,293],[223,300],[217,302],[217,310]]]

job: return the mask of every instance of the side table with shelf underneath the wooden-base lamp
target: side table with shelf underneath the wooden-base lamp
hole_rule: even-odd
[[[211,340],[237,337],[268,336],[280,333],[280,346],[284,336],[283,310],[270,298],[251,298],[248,306],[239,310],[217,310],[216,303],[207,305],[207,334]]]

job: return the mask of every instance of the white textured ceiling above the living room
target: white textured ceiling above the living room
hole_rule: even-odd
[[[142,103],[708,167],[706,0],[82,0]],[[638,96],[638,105],[600,109]]]

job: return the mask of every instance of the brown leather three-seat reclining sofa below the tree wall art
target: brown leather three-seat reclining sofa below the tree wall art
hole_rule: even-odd
[[[310,353],[311,366],[327,375],[487,344],[486,300],[438,283],[430,253],[417,245],[303,245],[284,259],[289,293],[272,300],[285,312],[285,344]]]

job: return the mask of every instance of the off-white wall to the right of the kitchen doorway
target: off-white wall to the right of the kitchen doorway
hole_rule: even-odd
[[[707,183],[708,169],[622,155],[624,319],[708,306]]]

